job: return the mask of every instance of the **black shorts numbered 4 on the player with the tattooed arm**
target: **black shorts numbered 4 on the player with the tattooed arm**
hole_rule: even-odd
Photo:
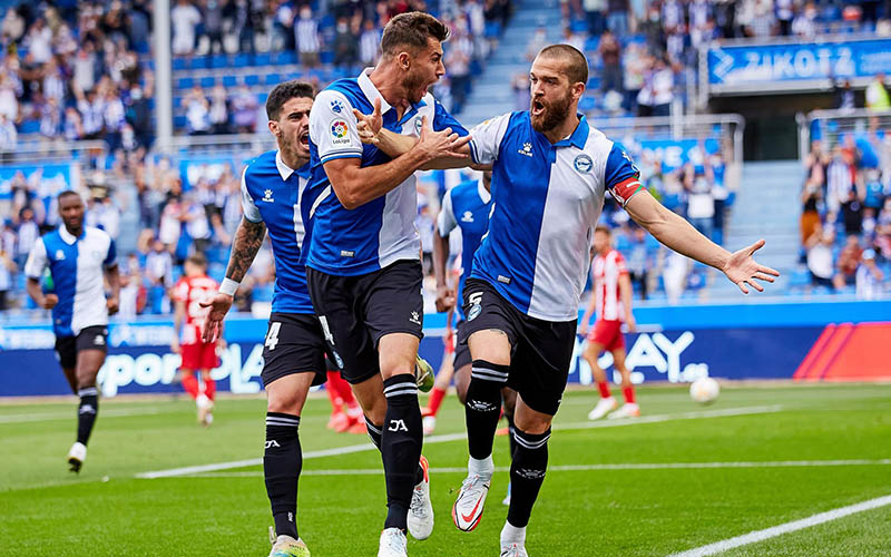
[[[294,373],[315,373],[313,385],[324,383],[326,352],[327,344],[315,315],[273,313],[263,343],[260,374],[263,387]]]

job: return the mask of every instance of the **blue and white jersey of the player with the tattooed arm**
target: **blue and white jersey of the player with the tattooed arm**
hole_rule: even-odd
[[[242,176],[242,208],[252,223],[263,222],[275,260],[272,311],[315,313],[306,289],[306,251],[316,197],[309,187],[310,164],[294,170],[277,150],[258,156]]]

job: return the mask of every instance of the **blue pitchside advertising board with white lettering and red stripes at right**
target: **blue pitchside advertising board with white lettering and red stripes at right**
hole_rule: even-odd
[[[796,379],[850,381],[891,379],[887,344],[891,339],[891,301],[639,307],[639,331],[626,335],[628,368],[635,383],[723,379]],[[884,322],[883,322],[884,321]],[[442,360],[443,315],[425,316],[421,355],[434,368]],[[261,391],[266,322],[227,321],[228,348],[214,370],[218,389]],[[173,392],[179,356],[169,351],[173,323],[144,319],[114,322],[109,355],[99,373],[102,393]],[[69,392],[48,325],[0,328],[0,397]],[[569,381],[591,382],[590,369],[576,353]],[[600,364],[609,369],[611,359]]]

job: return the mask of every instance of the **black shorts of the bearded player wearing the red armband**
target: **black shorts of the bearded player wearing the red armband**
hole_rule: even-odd
[[[459,344],[467,344],[467,339],[477,331],[502,331],[511,346],[507,387],[519,392],[532,410],[556,414],[572,362],[577,320],[530,317],[501,297],[492,285],[478,278],[464,284],[463,302],[468,320],[458,330]]]

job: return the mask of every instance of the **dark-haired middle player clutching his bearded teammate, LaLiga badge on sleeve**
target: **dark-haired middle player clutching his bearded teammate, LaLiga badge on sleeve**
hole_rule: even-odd
[[[310,115],[310,187],[320,193],[306,280],[329,346],[381,449],[388,514],[380,557],[407,555],[405,530],[424,539],[433,528],[425,461],[418,472],[423,434],[414,370],[423,300],[414,172],[468,141],[428,92],[446,71],[448,35],[427,13],[394,17],[378,66],[331,84]],[[383,107],[384,127],[419,138],[405,156],[391,160],[360,141],[353,109],[370,113],[374,104]]]

